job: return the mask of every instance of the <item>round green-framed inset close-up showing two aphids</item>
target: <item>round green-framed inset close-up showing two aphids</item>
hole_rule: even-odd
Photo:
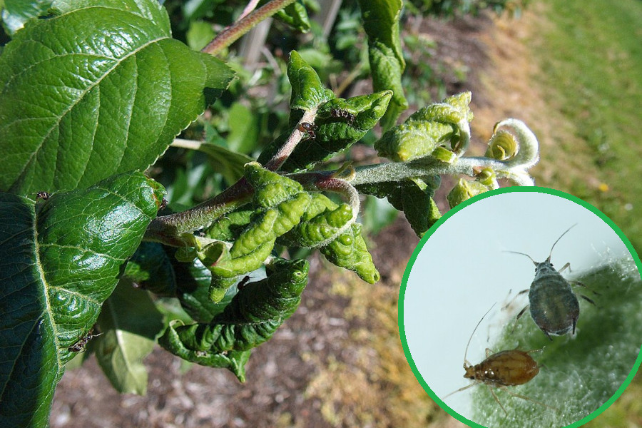
[[[578,427],[642,360],[639,266],[621,230],[574,196],[483,193],[412,255],[399,295],[407,360],[473,427]]]

